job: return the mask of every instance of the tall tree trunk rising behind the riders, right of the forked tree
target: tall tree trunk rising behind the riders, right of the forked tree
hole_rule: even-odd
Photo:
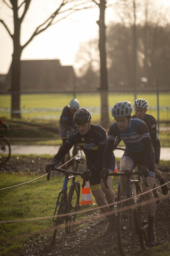
[[[99,26],[99,53],[100,53],[100,93],[101,93],[101,126],[108,128],[108,78],[106,65],[106,27],[105,9],[106,1],[101,0],[99,4],[100,18],[97,21]]]

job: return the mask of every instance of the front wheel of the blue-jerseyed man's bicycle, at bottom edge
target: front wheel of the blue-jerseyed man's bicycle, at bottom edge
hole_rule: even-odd
[[[126,198],[122,197],[121,201]],[[118,204],[117,240],[121,256],[132,256],[135,247],[135,216],[130,201]]]

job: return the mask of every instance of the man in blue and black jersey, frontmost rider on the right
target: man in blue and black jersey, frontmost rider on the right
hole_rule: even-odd
[[[115,123],[111,125],[108,131],[107,147],[104,152],[103,170],[100,175],[105,179],[108,175],[108,163],[111,153],[114,150],[116,137],[122,139],[125,143],[125,152],[120,161],[120,172],[131,171],[138,164],[141,165],[141,172],[145,175],[149,187],[142,182],[143,192],[153,188],[155,182],[155,156],[152,148],[149,130],[145,122],[140,119],[131,119],[132,106],[128,101],[117,102],[112,108],[112,116]],[[120,187],[122,194],[126,192],[126,178],[120,177]],[[148,245],[154,246],[157,243],[154,222],[156,212],[156,202],[152,191],[143,195],[145,200],[150,200],[146,204],[148,213]]]

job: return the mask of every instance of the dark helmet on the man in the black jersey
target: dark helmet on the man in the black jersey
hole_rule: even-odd
[[[91,119],[90,112],[86,108],[78,109],[73,116],[73,122],[75,124],[86,124],[90,121],[90,119]]]

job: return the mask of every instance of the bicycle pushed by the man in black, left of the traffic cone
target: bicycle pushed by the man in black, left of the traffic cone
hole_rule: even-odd
[[[54,222],[54,232],[52,238],[52,245],[55,243],[56,233],[58,225],[62,225],[65,223],[65,231],[66,234],[69,234],[72,231],[72,228],[75,223],[75,219],[77,218],[77,212],[80,210],[80,182],[75,181],[77,175],[81,176],[82,173],[77,172],[78,164],[83,161],[83,156],[77,156],[74,159],[75,167],[74,172],[70,170],[64,170],[60,168],[55,168],[55,171],[61,172],[65,174],[63,188],[58,194],[55,211],[53,215]],[[47,180],[50,178],[50,170],[47,174]],[[69,176],[71,175],[71,176]],[[69,190],[69,195],[67,195],[67,185],[69,180],[72,179],[72,183]],[[84,181],[83,185],[84,186]],[[63,216],[63,214],[70,213],[69,215]]]

